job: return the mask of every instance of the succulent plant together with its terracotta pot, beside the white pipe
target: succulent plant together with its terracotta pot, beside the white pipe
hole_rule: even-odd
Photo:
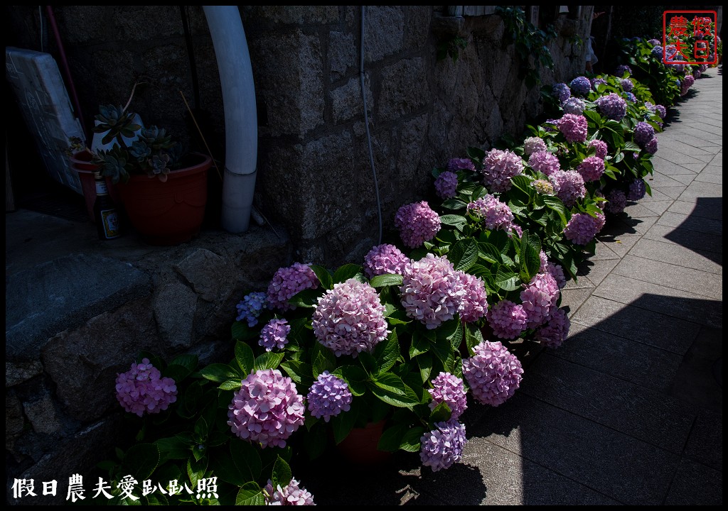
[[[94,132],[104,134],[103,144],[113,145],[96,150],[92,161],[111,182],[119,183],[127,216],[144,241],[189,241],[205,217],[212,158],[186,153],[164,128],[137,124],[128,106],[101,105]]]

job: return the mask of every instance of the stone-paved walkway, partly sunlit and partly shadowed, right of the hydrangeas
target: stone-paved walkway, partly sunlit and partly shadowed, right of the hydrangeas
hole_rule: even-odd
[[[566,343],[523,358],[510,401],[466,412],[462,462],[315,467],[331,475],[309,488],[317,503],[722,504],[721,73],[671,110],[652,197],[609,222],[563,291]]]

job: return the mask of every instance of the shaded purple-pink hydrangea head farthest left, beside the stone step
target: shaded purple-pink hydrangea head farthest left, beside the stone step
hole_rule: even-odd
[[[177,401],[175,380],[162,377],[149,358],[132,363],[129,371],[116,375],[116,401],[124,410],[137,414],[159,414]]]

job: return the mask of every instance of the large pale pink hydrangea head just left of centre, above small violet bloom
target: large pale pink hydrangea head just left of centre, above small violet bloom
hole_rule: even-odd
[[[337,357],[371,353],[389,334],[379,294],[356,278],[334,284],[319,298],[312,325],[318,341]]]

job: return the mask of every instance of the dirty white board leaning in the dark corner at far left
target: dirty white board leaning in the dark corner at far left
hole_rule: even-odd
[[[5,76],[15,90],[25,124],[48,173],[54,180],[83,193],[79,176],[71,169],[66,150],[71,137],[86,145],[86,137],[52,55],[30,49],[5,48]]]

